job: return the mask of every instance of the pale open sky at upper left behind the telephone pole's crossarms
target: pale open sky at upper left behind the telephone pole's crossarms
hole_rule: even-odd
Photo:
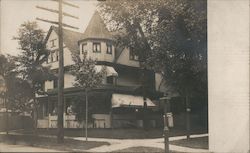
[[[37,21],[38,26],[45,32],[49,30],[50,23],[36,20],[37,17],[42,19],[58,21],[55,13],[37,9],[36,6],[42,6],[51,9],[57,9],[58,3],[51,0],[0,0],[0,48],[2,54],[17,55],[20,53],[18,43],[13,40],[17,36],[18,28],[26,21]],[[96,0],[67,0],[74,3],[80,8],[63,6],[63,10],[72,15],[78,16],[79,19],[64,17],[63,22],[79,28],[78,32],[84,32],[89,20],[96,10]],[[71,29],[73,30],[73,29]]]

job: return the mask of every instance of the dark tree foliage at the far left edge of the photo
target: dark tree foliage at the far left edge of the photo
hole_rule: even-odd
[[[19,78],[14,57],[0,55],[0,75],[3,76],[6,86],[6,91],[1,95],[6,99],[7,108],[15,112],[30,110],[31,105],[28,102],[32,98],[31,88],[27,81]]]

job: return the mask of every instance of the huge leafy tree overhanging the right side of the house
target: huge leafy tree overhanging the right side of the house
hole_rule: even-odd
[[[190,97],[207,99],[206,1],[117,0],[99,7],[109,29],[118,31],[117,45],[134,48],[141,66],[160,72],[188,109]]]

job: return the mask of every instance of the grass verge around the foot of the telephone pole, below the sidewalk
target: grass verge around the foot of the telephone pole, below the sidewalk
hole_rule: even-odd
[[[58,144],[56,138],[39,137],[34,135],[0,135],[0,142],[13,145],[26,145],[70,152],[88,150],[102,145],[110,145],[107,142],[85,142],[73,139],[65,139],[64,144]]]

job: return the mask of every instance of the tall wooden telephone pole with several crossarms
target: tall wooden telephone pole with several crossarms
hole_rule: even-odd
[[[52,24],[58,25],[58,37],[59,37],[59,71],[58,71],[58,104],[57,104],[57,142],[63,143],[64,142],[64,130],[63,130],[63,114],[64,114],[64,57],[63,57],[63,26],[78,29],[77,27],[67,25],[63,23],[63,15],[68,16],[71,18],[78,19],[73,15],[63,12],[63,4],[68,5],[74,8],[79,8],[77,5],[68,3],[64,0],[52,0],[58,2],[58,10],[53,10],[49,8],[44,8],[37,6],[38,9],[46,10],[49,12],[57,13],[58,14],[58,22],[45,20],[41,18],[37,18],[37,20],[48,22]]]

